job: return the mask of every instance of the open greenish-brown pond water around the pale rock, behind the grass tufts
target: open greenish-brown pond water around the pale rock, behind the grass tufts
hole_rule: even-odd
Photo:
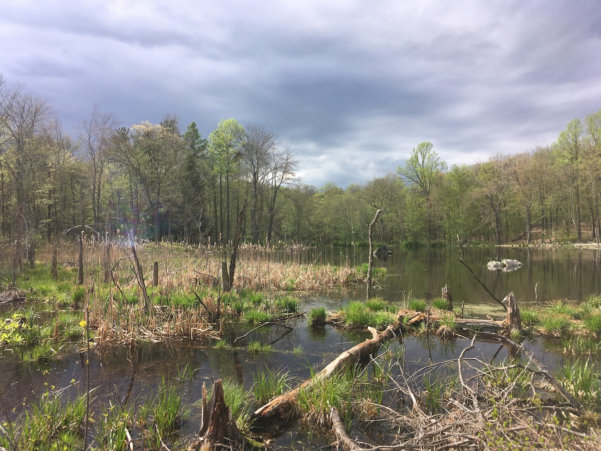
[[[406,298],[437,298],[445,284],[450,287],[454,304],[465,302],[466,313],[482,316],[484,306],[492,313],[502,308],[490,297],[459,259],[460,248],[389,248],[392,254],[376,266],[388,271],[376,295],[391,302]],[[465,247],[463,262],[498,299],[513,292],[519,305],[544,305],[554,299],[584,301],[587,296],[601,293],[601,250],[594,248],[506,248]],[[326,262],[333,265],[360,265],[367,262],[368,251],[353,248],[322,248],[308,250],[305,262]],[[490,260],[517,259],[522,268],[516,271],[489,271]],[[328,293],[336,302],[364,299],[365,288],[350,293]],[[324,299],[326,300],[326,299]],[[498,311],[497,311],[498,310]]]

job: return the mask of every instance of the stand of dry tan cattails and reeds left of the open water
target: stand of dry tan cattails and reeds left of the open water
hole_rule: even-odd
[[[180,244],[138,244],[138,254],[145,284],[154,295],[169,298],[177,293],[194,299],[200,293],[205,307],[175,304],[154,305],[145,310],[142,290],[133,269],[132,253],[125,242],[111,243],[108,260],[106,243],[84,239],[85,304],[89,305],[89,322],[95,330],[99,346],[132,340],[159,340],[165,337],[213,337],[216,332],[208,312],[216,313],[219,297],[215,286],[221,284],[221,265],[229,259],[227,249],[217,247],[185,247]],[[78,262],[79,247],[75,243],[61,242],[58,262],[73,265]],[[52,260],[52,246],[41,247],[38,260]],[[318,291],[333,286],[344,286],[362,281],[355,268],[314,263],[299,263],[293,253],[281,253],[269,248],[245,245],[240,248],[233,289],[253,291]],[[159,284],[150,287],[153,263],[159,263]],[[104,269],[112,271],[105,283]],[[219,282],[219,283],[216,283]],[[133,293],[133,294],[132,294]],[[127,296],[137,296],[126,299]],[[212,319],[212,318],[211,318]]]

